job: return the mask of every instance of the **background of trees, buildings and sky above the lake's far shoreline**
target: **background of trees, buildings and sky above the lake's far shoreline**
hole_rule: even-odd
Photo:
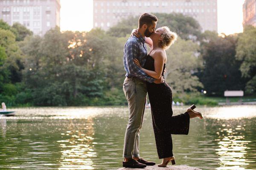
[[[253,0],[2,0],[0,101],[9,106],[126,105],[122,50],[138,17],[178,40],[167,51],[174,101],[255,102]]]

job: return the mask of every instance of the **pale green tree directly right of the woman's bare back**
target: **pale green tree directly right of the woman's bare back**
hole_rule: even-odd
[[[178,38],[166,51],[166,81],[175,92],[195,92],[203,87],[198,77],[192,75],[202,65],[197,56],[198,49],[197,43]]]

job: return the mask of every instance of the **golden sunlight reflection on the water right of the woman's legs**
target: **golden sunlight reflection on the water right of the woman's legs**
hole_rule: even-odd
[[[251,141],[244,140],[244,135],[241,134],[245,131],[246,125],[237,125],[230,127],[230,125],[222,124],[217,132],[219,138],[217,139],[219,148],[216,153],[219,155],[220,167],[217,170],[245,170],[245,166],[249,164],[246,158],[247,144]]]

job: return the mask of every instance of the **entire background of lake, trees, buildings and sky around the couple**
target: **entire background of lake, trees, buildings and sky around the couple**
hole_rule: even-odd
[[[128,120],[123,47],[140,14],[178,34],[166,51],[177,164],[256,170],[255,0],[0,0],[0,169],[118,169]],[[1,112],[0,112],[1,113]],[[160,163],[146,108],[141,156]]]

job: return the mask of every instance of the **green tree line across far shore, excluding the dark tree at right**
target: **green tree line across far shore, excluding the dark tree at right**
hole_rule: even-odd
[[[246,85],[247,94],[255,93],[255,43],[249,43],[254,42],[253,28],[218,37],[212,31],[201,34],[191,17],[156,15],[157,27],[169,26],[179,35],[166,51],[165,79],[175,102],[217,105],[215,99],[199,94],[202,88],[207,95],[223,96],[224,90],[244,90]],[[0,102],[8,106],[127,105],[122,52],[137,19],[122,20],[108,32],[61,32],[56,27],[44,37],[32,35],[18,23],[11,27],[0,21]]]

